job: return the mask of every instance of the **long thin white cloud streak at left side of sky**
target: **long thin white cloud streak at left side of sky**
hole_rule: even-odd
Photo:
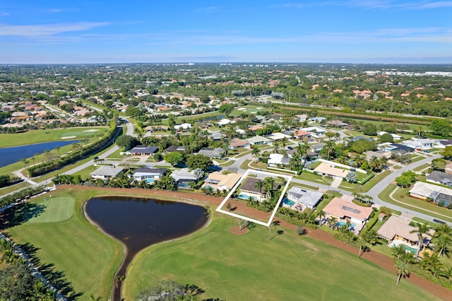
[[[7,25],[0,24],[0,36],[40,37],[58,35],[75,31],[89,30],[109,25],[105,22],[57,23],[46,25]]]

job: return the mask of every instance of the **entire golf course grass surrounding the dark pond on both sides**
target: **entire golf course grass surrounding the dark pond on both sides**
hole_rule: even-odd
[[[44,276],[55,277],[61,272],[67,281],[65,291],[72,291],[80,300],[91,294],[102,296],[102,300],[109,298],[114,271],[123,254],[119,242],[83,216],[83,203],[100,195],[189,201],[210,208],[222,200],[174,191],[59,187],[52,191],[54,201],[49,202],[49,194],[31,201],[30,209],[40,208],[35,211],[37,218],[22,212],[6,232],[15,242],[34,249],[31,255],[40,264],[52,266],[43,271]],[[63,206],[53,206],[57,201]],[[408,281],[397,286],[395,273],[358,260],[355,253],[310,235],[297,236],[292,226],[276,226],[269,234],[267,227],[256,225],[246,235],[237,236],[231,232],[239,224],[236,218],[211,214],[213,219],[206,228],[138,254],[124,281],[124,299],[135,300],[141,290],[165,278],[197,285],[206,290],[203,297],[224,300],[249,300],[250,296],[256,300],[299,300],[300,296],[306,300],[366,300],[381,297],[381,288],[391,300],[439,300]]]

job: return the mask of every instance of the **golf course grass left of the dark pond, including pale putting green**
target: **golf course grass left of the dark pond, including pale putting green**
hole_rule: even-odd
[[[105,193],[83,189],[52,191],[52,199],[46,194],[31,201],[44,210],[42,213],[35,212],[34,218],[6,230],[15,242],[35,247],[41,265],[61,272],[73,292],[82,294],[77,300],[88,300],[90,294],[104,300],[110,294],[114,271],[123,256],[121,244],[102,234],[83,216],[83,202]],[[25,212],[28,218],[31,214],[30,210]]]

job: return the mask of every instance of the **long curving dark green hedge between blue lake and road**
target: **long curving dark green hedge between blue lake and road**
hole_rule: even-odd
[[[112,122],[108,134],[104,136],[100,141],[90,144],[89,146],[85,146],[78,151],[72,151],[68,155],[64,155],[63,157],[60,157],[56,160],[30,166],[28,167],[28,174],[30,175],[30,177],[44,175],[47,172],[57,170],[59,167],[69,165],[77,160],[85,158],[88,155],[96,153],[97,151],[100,151],[103,147],[105,147],[112,140],[112,138],[114,138],[114,136],[117,134],[117,131],[121,130],[121,127],[117,127],[116,124]]]

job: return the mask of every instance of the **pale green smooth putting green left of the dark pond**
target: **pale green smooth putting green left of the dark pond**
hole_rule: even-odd
[[[40,205],[45,206],[44,212],[30,218],[28,223],[56,223],[69,220],[73,216],[73,206],[76,201],[72,196],[45,197]]]

